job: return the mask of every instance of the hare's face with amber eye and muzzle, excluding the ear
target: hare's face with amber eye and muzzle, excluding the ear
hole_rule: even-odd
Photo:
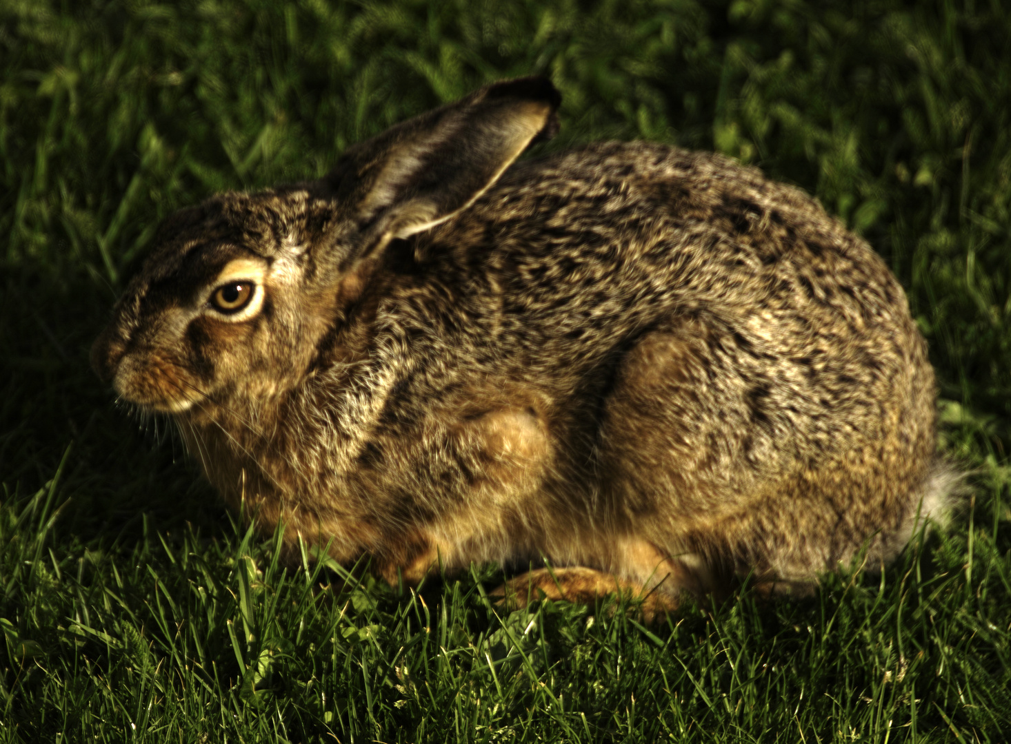
[[[337,312],[340,270],[310,246],[339,210],[316,192],[226,194],[170,218],[92,348],[99,375],[168,413],[294,385]]]

